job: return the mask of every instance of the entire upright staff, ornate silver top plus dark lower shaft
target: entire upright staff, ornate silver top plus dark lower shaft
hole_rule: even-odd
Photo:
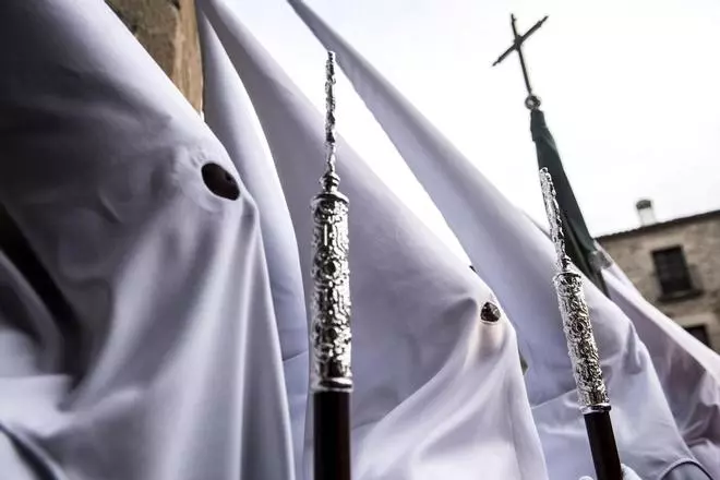
[[[350,480],[350,268],[348,199],[335,171],[335,55],[325,64],[325,172],[312,201],[312,344],[314,480]]]

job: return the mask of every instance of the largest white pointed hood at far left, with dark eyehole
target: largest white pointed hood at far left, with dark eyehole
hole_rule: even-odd
[[[257,209],[223,146],[101,1],[0,2],[0,203],[82,336],[80,371],[0,379],[3,475],[291,478]]]

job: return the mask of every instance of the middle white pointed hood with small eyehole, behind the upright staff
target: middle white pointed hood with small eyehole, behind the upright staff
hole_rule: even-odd
[[[308,293],[308,202],[324,169],[322,116],[252,38],[230,2],[199,5],[265,132]],[[316,60],[322,72],[324,59]],[[492,292],[341,139],[337,161],[340,190],[350,199],[355,477],[547,478],[514,331],[504,316],[480,319],[482,307],[495,301]]]

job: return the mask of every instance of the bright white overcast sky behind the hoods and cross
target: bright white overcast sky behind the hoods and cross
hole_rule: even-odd
[[[325,53],[285,0],[235,0],[245,25],[322,108]],[[593,235],[720,208],[717,0],[307,0],[515,204],[544,224],[509,13],[526,44],[575,194]],[[347,81],[338,129],[441,237],[436,209]],[[453,239],[449,239],[454,243]]]

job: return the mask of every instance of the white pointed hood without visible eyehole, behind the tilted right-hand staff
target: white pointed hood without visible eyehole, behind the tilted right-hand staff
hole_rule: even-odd
[[[550,477],[579,478],[592,471],[552,286],[553,245],[304,3],[290,3],[320,41],[337,53],[343,71],[507,310],[529,364],[528,394]],[[629,320],[587,281],[586,296],[621,458],[647,479],[662,478],[677,461],[694,461]]]

